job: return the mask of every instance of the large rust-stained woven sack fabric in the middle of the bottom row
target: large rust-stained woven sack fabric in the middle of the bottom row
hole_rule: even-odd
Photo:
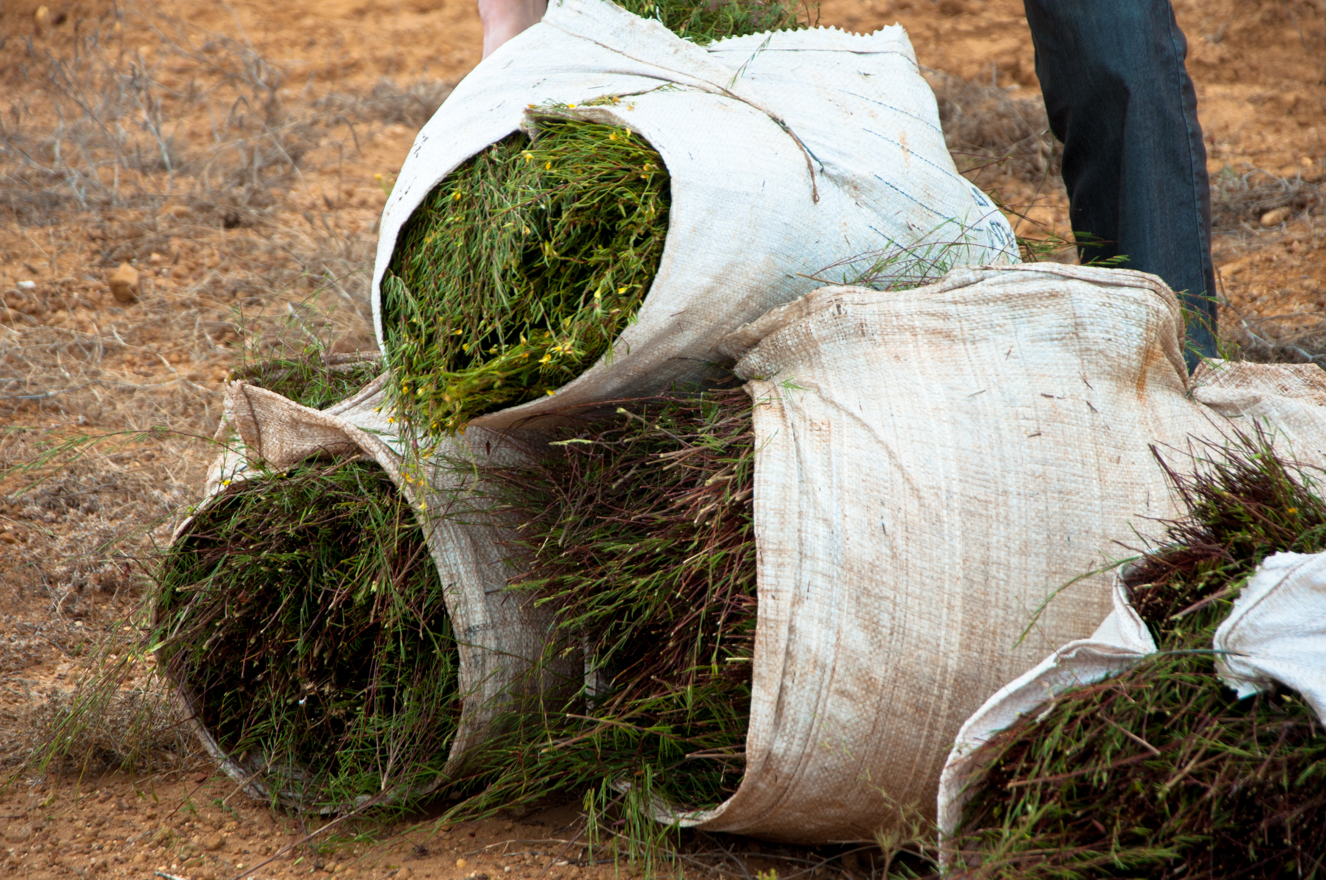
[[[823,842],[932,816],[964,720],[1091,635],[1105,569],[1177,514],[1152,444],[1228,429],[1181,338],[1154,276],[1049,264],[825,288],[729,335],[764,402],[747,773],[675,818]]]

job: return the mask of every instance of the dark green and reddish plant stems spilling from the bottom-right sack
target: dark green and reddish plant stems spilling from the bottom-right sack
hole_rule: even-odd
[[[1285,688],[1237,698],[1212,649],[1265,557],[1326,550],[1326,504],[1260,435],[1170,476],[1187,516],[1124,574],[1158,653],[983,746],[955,873],[1326,876],[1322,724]]]

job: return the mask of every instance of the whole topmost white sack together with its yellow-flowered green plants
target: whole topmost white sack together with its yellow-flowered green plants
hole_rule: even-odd
[[[392,415],[414,437],[505,431],[712,380],[719,341],[817,272],[944,243],[949,262],[1016,258],[900,28],[701,46],[552,0],[456,86],[387,199],[371,302]]]

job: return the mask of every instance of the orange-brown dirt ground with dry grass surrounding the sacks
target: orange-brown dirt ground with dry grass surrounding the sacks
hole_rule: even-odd
[[[195,498],[219,384],[243,353],[371,345],[365,293],[385,192],[480,45],[473,0],[45,3],[0,7],[0,757],[11,769],[49,737],[86,677],[82,659],[107,640],[131,644],[122,627],[145,561]],[[1326,3],[1176,8],[1211,156],[1224,335],[1254,359],[1318,357]],[[822,24],[850,30],[894,21],[928,69],[960,167],[1020,233],[1066,235],[1021,4],[821,8]],[[117,278],[125,262],[133,272]],[[107,439],[74,461],[58,455],[89,435]],[[49,455],[58,468],[42,467]],[[84,773],[29,767],[0,795],[0,871],[642,872],[590,855],[573,806],[450,830],[427,816],[361,822],[290,848],[320,823],[245,799],[178,728],[156,724],[126,755],[125,718],[142,717],[133,708],[70,743]],[[134,773],[107,770],[126,757]],[[866,850],[693,843],[680,867],[701,873],[861,877],[880,865]]]

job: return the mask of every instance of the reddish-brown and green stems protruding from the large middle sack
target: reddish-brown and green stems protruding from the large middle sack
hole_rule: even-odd
[[[578,791],[650,839],[655,806],[736,790],[757,604],[751,410],[740,388],[625,402],[485,474],[520,523],[509,588],[553,611],[548,659],[583,657],[585,677],[509,721],[485,758],[496,775],[453,816]]]

